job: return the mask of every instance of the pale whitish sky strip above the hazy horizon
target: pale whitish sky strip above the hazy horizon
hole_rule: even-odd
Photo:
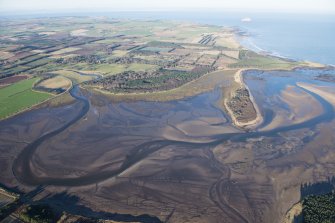
[[[335,14],[335,0],[0,0],[0,12],[237,10]]]

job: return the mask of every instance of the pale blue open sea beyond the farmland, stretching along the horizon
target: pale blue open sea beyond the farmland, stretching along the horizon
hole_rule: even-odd
[[[201,10],[187,12],[63,12],[53,14],[53,16],[67,15],[103,15],[111,18],[144,20],[163,19],[238,27],[246,33],[247,37],[239,40],[248,49],[294,60],[335,66],[334,14],[209,12]],[[50,16],[50,14],[31,14],[28,16]]]

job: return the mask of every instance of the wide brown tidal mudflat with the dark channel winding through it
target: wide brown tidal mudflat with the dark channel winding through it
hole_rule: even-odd
[[[266,91],[267,79],[252,81],[264,114],[257,91]],[[329,89],[299,89],[320,112],[255,131],[232,125],[217,106],[219,87],[170,102],[113,102],[76,89],[72,104],[1,122],[0,182],[24,191],[43,185],[39,199],[76,197],[76,205],[95,213],[150,214],[163,222],[281,222],[299,201],[301,183],[335,173]],[[261,128],[283,109],[278,100],[285,94],[278,92],[268,95],[274,115],[264,115]],[[287,103],[303,106],[299,99],[298,92]],[[73,210],[71,202],[62,205]]]

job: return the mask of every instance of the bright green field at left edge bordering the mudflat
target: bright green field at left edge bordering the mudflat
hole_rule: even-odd
[[[19,81],[0,89],[0,119],[30,108],[50,97],[51,94],[36,92],[32,86],[38,78]]]

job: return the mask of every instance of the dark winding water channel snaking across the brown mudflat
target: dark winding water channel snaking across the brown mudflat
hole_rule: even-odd
[[[308,71],[304,71],[305,74],[308,74]],[[314,72],[315,73],[315,72]],[[252,74],[252,72],[248,73],[247,76],[249,77]],[[259,72],[254,72],[254,74],[259,75]],[[264,75],[263,75],[264,77]],[[273,76],[269,76],[271,78]],[[274,78],[276,78],[274,76]],[[305,75],[303,79],[305,81],[307,80],[308,75]],[[301,81],[301,78],[297,79],[295,78],[286,78],[287,81],[282,82],[276,82],[276,88],[277,92],[284,89],[284,87],[288,84],[294,85],[295,87],[298,87],[295,83],[299,80]],[[272,80],[273,81],[273,80]],[[249,87],[252,89],[256,87],[255,83],[251,83],[251,79],[247,78],[247,83],[250,84]],[[300,87],[298,87],[300,88]],[[87,174],[80,177],[67,177],[67,178],[55,178],[55,177],[49,177],[49,176],[40,176],[31,168],[31,160],[34,156],[36,150],[39,148],[39,146],[51,138],[57,136],[58,134],[61,134],[66,129],[70,128],[73,124],[80,121],[87,112],[91,109],[89,98],[85,95],[83,95],[78,87],[78,85],[75,85],[71,90],[70,94],[73,98],[76,99],[76,101],[80,102],[82,104],[81,109],[77,111],[76,116],[63,126],[44,133],[42,136],[38,137],[33,142],[29,143],[22,152],[17,156],[13,163],[13,173],[15,177],[23,184],[27,185],[58,185],[58,186],[82,186],[82,185],[89,185],[98,183],[104,180],[107,180],[109,178],[118,176],[120,173],[124,172],[128,168],[132,167],[134,164],[138,163],[145,157],[149,156],[150,154],[161,150],[167,146],[174,146],[174,147],[183,147],[188,149],[200,149],[200,148],[214,148],[215,146],[230,140],[233,142],[241,142],[245,141],[250,138],[258,138],[262,136],[273,136],[278,133],[302,129],[302,128],[313,128],[319,123],[322,122],[328,122],[331,121],[334,118],[334,110],[333,106],[327,102],[324,98],[321,96],[308,91],[306,89],[302,89],[307,94],[311,95],[314,99],[316,99],[320,105],[322,106],[323,112],[322,114],[310,118],[307,121],[297,123],[297,124],[291,124],[287,126],[280,126],[271,130],[267,131],[250,131],[250,132],[235,132],[235,133],[223,133],[223,134],[213,134],[211,136],[211,141],[208,142],[188,142],[188,141],[181,141],[181,140],[171,140],[171,139],[160,139],[160,140],[153,140],[148,141],[145,143],[141,143],[137,146],[135,146],[132,149],[132,153],[127,155],[127,158],[123,161],[122,165],[112,171],[101,171],[101,172],[94,172],[91,174]],[[271,89],[273,91],[273,89]],[[268,92],[267,92],[268,93]],[[206,99],[215,99],[217,97],[211,96],[211,94],[217,94],[217,92],[212,92],[207,95]],[[274,93],[273,93],[274,94]],[[199,97],[199,96],[196,96]],[[215,101],[211,101],[212,104],[215,103]],[[213,109],[217,109],[213,107]],[[271,122],[271,116],[266,116],[265,123]],[[214,158],[213,158],[214,159]]]

